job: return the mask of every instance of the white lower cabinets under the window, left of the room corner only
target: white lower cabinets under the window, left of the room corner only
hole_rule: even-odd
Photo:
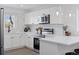
[[[6,36],[4,39],[4,50],[11,50],[25,46],[25,38],[20,34]]]

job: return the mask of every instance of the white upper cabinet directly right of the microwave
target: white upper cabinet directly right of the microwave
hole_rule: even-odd
[[[63,24],[61,7],[50,9],[50,24]]]

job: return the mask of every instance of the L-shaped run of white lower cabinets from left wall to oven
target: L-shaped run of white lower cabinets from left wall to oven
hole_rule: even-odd
[[[33,49],[33,37],[13,35],[6,36],[4,39],[4,50],[11,50],[25,46]]]

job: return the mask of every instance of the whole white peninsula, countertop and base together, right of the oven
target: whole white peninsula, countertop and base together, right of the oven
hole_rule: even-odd
[[[40,39],[40,55],[64,55],[79,48],[79,37],[59,36]]]

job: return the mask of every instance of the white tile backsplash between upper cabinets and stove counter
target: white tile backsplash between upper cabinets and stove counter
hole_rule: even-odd
[[[33,33],[36,33],[36,28],[42,27],[42,28],[54,29],[54,34],[52,35],[58,35],[58,36],[64,35],[63,24],[40,24],[40,25],[31,24],[31,25],[26,25],[26,26],[30,26],[31,32]]]

